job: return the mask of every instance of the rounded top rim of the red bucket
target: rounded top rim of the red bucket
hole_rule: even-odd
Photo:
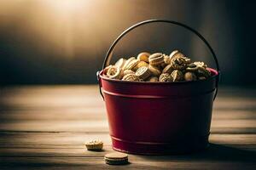
[[[102,72],[103,71],[100,71],[100,74],[99,74],[99,77],[101,77],[101,79],[105,80],[105,81],[108,81],[108,82],[118,82],[118,83],[131,83],[131,84],[150,84],[150,85],[176,85],[176,84],[187,84],[187,83],[195,83],[195,82],[206,82],[206,81],[209,81],[210,79],[218,79],[218,76],[219,76],[219,72],[215,69],[212,69],[212,68],[207,68],[207,70],[211,71],[211,73],[213,74],[211,77],[207,78],[206,80],[195,80],[195,81],[181,81],[181,82],[131,82],[131,81],[124,81],[124,80],[116,80],[116,79],[110,79],[108,77],[103,77],[102,76]]]

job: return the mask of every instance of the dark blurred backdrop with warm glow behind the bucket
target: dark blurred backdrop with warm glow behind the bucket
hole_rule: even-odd
[[[201,32],[215,50],[222,85],[255,87],[255,1],[2,0],[1,83],[96,83],[113,40],[148,19],[177,20]],[[177,26],[148,25],[119,43],[115,56],[178,48],[214,67],[206,46]]]

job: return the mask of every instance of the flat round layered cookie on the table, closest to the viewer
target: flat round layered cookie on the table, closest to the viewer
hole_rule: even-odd
[[[104,160],[109,165],[125,165],[129,163],[128,155],[119,152],[109,153],[105,155]]]

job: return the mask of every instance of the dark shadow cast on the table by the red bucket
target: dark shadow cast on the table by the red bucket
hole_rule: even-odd
[[[152,161],[242,161],[256,162],[256,151],[241,150],[221,144],[210,144],[207,150],[177,156],[140,156]]]

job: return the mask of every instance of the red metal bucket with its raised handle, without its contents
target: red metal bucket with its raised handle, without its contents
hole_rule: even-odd
[[[218,91],[219,69],[216,55],[201,34],[171,20],[140,22],[113,42],[103,68],[109,65],[113,48],[127,32],[152,22],[171,23],[194,32],[210,48],[217,71],[209,69],[212,77],[194,82],[126,82],[102,77],[102,71],[98,72],[113,149],[145,155],[205,149],[211,127],[212,104]]]

